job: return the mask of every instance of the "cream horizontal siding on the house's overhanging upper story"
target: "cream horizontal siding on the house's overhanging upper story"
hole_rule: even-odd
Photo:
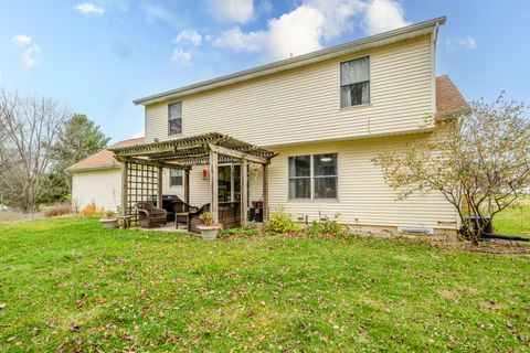
[[[365,55],[371,104],[341,109],[340,62]],[[432,55],[431,36],[425,35],[181,97],[176,100],[182,100],[183,136],[219,131],[259,146],[282,146],[422,129],[434,105]],[[147,142],[169,138],[171,101],[146,107]]]

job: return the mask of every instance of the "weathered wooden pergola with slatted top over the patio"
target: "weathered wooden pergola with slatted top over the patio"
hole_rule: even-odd
[[[268,220],[268,164],[276,153],[261,147],[210,132],[167,141],[109,149],[121,162],[121,212],[134,215],[135,204],[156,195],[162,204],[162,170],[184,171],[184,202],[190,202],[190,170],[193,165],[210,165],[210,211],[219,221],[218,163],[241,163],[241,224],[247,223],[247,163],[263,168],[263,221]]]

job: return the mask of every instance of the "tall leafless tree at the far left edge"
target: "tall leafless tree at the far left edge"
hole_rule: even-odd
[[[0,89],[0,193],[23,212],[35,212],[52,169],[52,146],[68,117],[46,97]]]

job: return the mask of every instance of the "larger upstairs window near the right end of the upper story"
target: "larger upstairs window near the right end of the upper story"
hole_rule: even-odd
[[[340,107],[370,104],[370,57],[340,63]]]

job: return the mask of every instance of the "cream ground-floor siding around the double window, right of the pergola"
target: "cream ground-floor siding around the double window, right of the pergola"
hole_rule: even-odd
[[[318,220],[319,212],[347,224],[364,226],[456,228],[454,207],[438,193],[396,201],[396,193],[382,178],[372,159],[383,149],[403,150],[407,143],[432,138],[410,135],[343,142],[312,143],[278,149],[271,163],[271,211],[284,208],[294,218],[308,215]],[[337,200],[288,200],[288,158],[290,156],[338,153]]]

